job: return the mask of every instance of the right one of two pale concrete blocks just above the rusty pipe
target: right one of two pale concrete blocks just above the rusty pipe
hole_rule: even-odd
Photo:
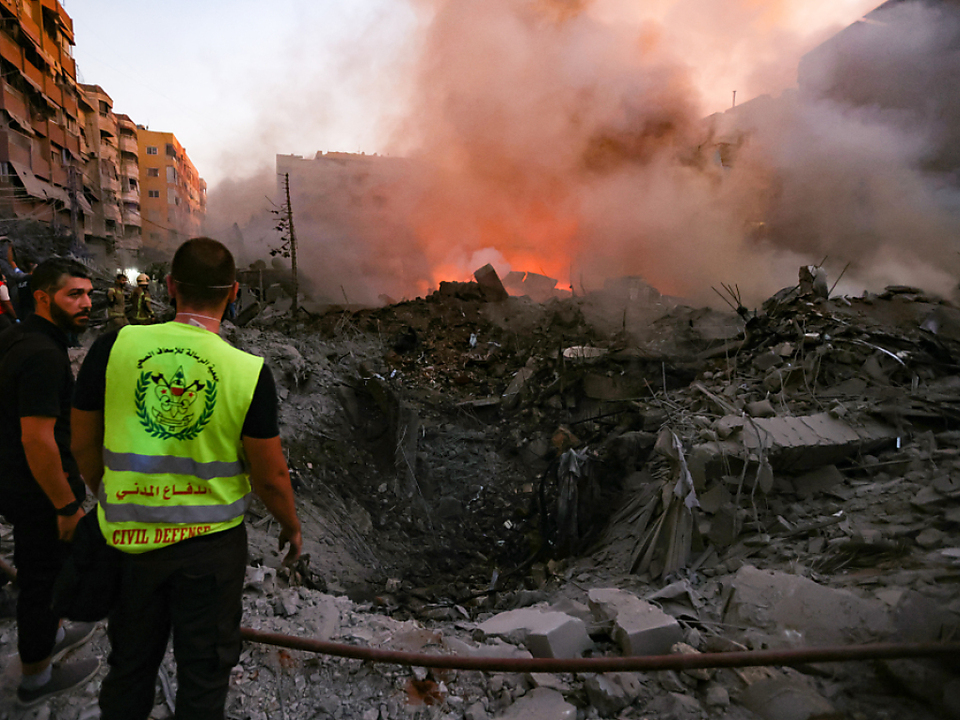
[[[611,636],[624,655],[666,655],[683,640],[676,618],[632,593],[599,588],[587,597],[597,620],[612,626]]]

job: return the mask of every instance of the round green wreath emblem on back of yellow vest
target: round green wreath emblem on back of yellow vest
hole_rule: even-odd
[[[217,404],[217,375],[210,363],[177,348],[154,351],[138,367],[134,401],[144,430],[161,440],[192,440],[203,432]]]

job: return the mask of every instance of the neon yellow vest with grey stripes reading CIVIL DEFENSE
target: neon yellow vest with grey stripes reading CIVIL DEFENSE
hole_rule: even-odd
[[[107,362],[100,529],[128,553],[243,522],[240,433],[263,359],[178,322],[119,331]]]

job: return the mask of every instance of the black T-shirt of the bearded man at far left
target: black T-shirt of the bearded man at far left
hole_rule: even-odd
[[[56,418],[53,436],[63,470],[75,494],[83,482],[70,453],[70,399],[73,371],[67,336],[39,315],[0,333],[0,493],[44,498],[27,464],[20,418]]]

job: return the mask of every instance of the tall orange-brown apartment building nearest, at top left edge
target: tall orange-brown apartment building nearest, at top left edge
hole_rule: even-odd
[[[0,0],[0,227],[34,219],[82,236],[91,207],[73,45],[57,0]]]

